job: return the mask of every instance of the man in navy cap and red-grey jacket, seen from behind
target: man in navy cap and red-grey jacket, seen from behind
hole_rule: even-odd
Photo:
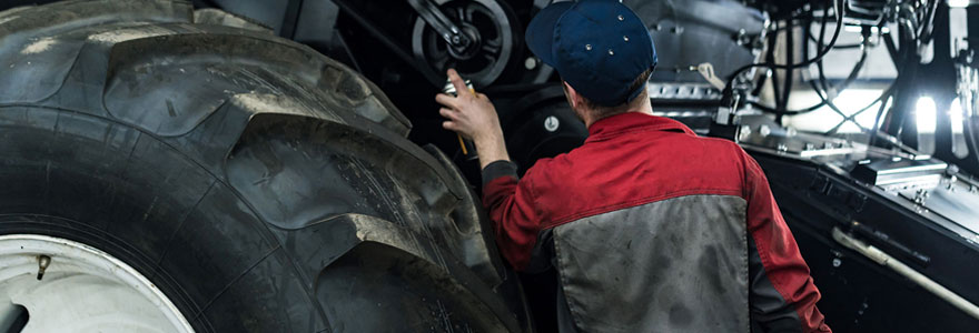
[[[555,2],[526,31],[589,128],[517,178],[493,103],[448,71],[443,127],[471,138],[483,203],[518,271],[556,268],[562,332],[830,332],[758,163],[652,115],[656,52],[613,0]]]

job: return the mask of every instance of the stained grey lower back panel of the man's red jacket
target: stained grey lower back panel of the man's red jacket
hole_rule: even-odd
[[[749,332],[744,199],[689,195],[554,228],[581,332]]]

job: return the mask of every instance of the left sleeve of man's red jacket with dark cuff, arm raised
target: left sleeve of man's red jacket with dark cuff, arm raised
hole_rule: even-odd
[[[500,251],[517,271],[530,263],[541,232],[532,172],[520,180],[516,164],[510,161],[496,161],[483,169],[483,205],[493,221]]]

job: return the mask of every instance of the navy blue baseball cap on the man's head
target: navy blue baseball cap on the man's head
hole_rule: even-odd
[[[650,31],[616,0],[554,2],[531,20],[526,41],[575,91],[606,107],[635,99],[645,87],[629,87],[656,67]]]

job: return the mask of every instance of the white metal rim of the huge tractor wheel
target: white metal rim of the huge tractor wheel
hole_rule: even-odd
[[[40,255],[51,260],[38,281]],[[46,235],[0,236],[0,324],[19,313],[13,304],[30,315],[21,332],[194,332],[177,306],[128,264]]]

